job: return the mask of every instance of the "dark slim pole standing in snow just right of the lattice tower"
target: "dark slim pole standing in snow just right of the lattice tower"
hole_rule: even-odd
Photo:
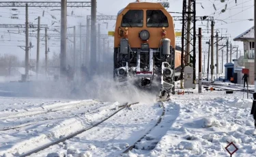
[[[201,28],[199,28],[199,80],[198,80],[198,93],[201,94],[202,92],[202,32]]]

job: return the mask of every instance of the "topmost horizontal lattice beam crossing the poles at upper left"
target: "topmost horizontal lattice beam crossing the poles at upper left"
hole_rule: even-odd
[[[0,7],[61,7],[60,1],[1,1]],[[91,1],[68,1],[67,7],[91,7]]]

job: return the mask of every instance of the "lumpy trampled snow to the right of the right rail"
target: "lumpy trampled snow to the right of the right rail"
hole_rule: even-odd
[[[253,100],[234,92],[173,96],[167,109],[180,106],[173,125],[155,149],[133,149],[129,156],[229,156],[225,147],[230,142],[239,149],[233,156],[256,156],[256,130],[250,115]]]

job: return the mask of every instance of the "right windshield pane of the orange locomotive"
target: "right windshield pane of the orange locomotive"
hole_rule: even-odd
[[[167,16],[161,10],[147,10],[147,27],[169,27]]]

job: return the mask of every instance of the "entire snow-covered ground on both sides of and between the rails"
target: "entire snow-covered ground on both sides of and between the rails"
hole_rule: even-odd
[[[218,82],[221,83],[221,82]],[[230,83],[221,83],[228,85]],[[240,85],[233,85],[232,88]],[[179,89],[180,90],[180,89]],[[256,156],[252,94],[205,91],[174,95],[164,102],[162,121],[124,156]],[[132,101],[132,100],[131,100]],[[0,156],[19,156],[109,116],[118,102],[1,98]],[[31,156],[118,156],[150,130],[162,113],[155,102],[141,102],[120,111],[96,128]],[[15,128],[18,127],[18,128]],[[8,128],[14,128],[6,130]]]

